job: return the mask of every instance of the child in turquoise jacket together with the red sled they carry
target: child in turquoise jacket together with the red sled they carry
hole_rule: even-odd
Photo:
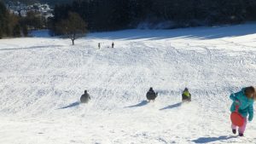
[[[236,128],[238,127],[238,135],[243,136],[248,121],[253,120],[253,102],[256,99],[255,88],[247,87],[241,89],[241,91],[231,94],[230,99],[233,101],[231,111],[231,129],[233,134],[236,134]]]

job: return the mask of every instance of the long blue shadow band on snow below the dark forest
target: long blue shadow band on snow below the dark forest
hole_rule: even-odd
[[[247,27],[245,29],[245,27]],[[109,38],[109,39],[161,39],[192,37],[198,39],[213,39],[221,37],[237,37],[256,32],[255,24],[217,26],[217,27],[192,27],[178,28],[172,30],[123,30],[120,32],[96,32],[89,37]]]

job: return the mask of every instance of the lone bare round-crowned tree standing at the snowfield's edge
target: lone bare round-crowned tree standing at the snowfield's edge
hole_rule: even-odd
[[[58,31],[62,34],[63,38],[69,38],[72,40],[74,45],[74,40],[79,37],[84,37],[87,31],[87,24],[77,13],[69,12],[66,20],[61,20],[57,24]]]

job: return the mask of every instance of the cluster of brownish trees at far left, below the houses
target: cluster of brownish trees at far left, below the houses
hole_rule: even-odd
[[[46,27],[46,20],[35,12],[21,17],[9,12],[0,1],[0,38],[27,36],[28,31]]]

